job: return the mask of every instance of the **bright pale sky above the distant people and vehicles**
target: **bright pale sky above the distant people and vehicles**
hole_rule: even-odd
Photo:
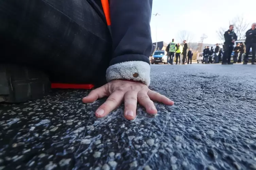
[[[211,2],[211,3],[210,3]],[[229,20],[237,15],[247,22],[256,22],[256,0],[153,0],[152,14],[160,16],[151,18],[152,41],[169,42],[177,40],[181,30],[188,30],[194,42],[199,42],[204,33],[208,38],[205,43],[218,43],[216,30],[219,27],[228,29]]]

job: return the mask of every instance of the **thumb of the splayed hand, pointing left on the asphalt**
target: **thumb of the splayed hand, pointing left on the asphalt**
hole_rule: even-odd
[[[92,103],[97,99],[101,99],[108,95],[106,85],[103,85],[95,90],[92,90],[85,98],[82,99],[83,103]]]

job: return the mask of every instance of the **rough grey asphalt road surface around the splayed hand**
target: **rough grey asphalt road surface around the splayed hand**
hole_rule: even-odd
[[[256,169],[256,66],[151,68],[151,89],[175,101],[155,117],[96,119],[104,100],[83,104],[84,90],[0,105],[0,169]]]

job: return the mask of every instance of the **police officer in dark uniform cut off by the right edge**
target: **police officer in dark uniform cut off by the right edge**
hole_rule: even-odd
[[[245,45],[246,52],[243,64],[248,63],[248,55],[252,47],[252,64],[255,64],[255,53],[256,53],[256,23],[252,24],[252,28],[246,31]]]

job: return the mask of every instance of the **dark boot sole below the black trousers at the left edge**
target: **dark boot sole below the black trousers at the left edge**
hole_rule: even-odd
[[[41,99],[51,89],[42,71],[12,64],[0,64],[0,102],[20,103]]]

